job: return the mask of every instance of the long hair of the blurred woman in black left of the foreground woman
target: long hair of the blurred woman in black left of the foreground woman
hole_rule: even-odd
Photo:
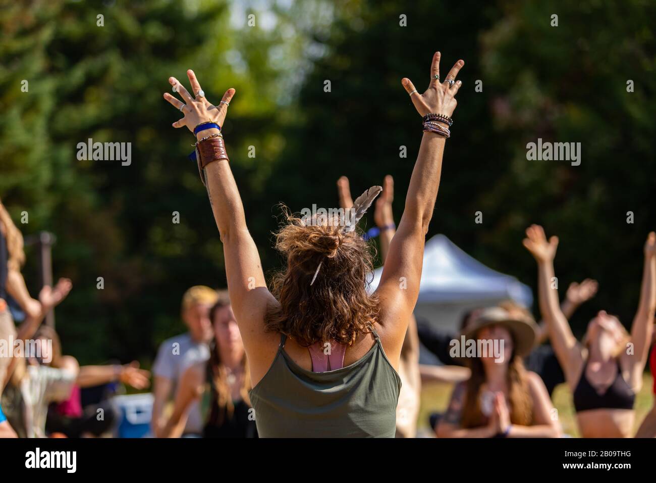
[[[216,312],[224,307],[230,306],[228,290],[218,290],[217,294],[218,299],[216,300],[216,304],[214,304],[209,312],[212,325],[214,325]],[[251,400],[248,392],[251,389],[251,372],[249,371],[245,351],[243,357],[241,357],[240,365],[244,377],[241,388],[239,388],[239,395],[241,396],[241,399],[250,406]],[[212,342],[210,350],[209,371],[209,377],[212,381],[210,421],[211,423],[220,426],[223,424],[226,416],[228,419],[232,418],[235,411],[235,405],[232,402],[232,392],[230,391],[230,384],[228,384],[228,370],[221,359],[216,336]]]

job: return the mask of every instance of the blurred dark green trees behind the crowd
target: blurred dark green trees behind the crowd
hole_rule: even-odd
[[[571,321],[575,332],[602,308],[630,324],[642,245],[656,228],[653,1],[0,6],[0,198],[14,220],[28,212],[29,223],[17,223],[24,235],[57,237],[54,275],[70,277],[74,288],[56,310],[56,328],[64,351],[82,364],[138,359],[150,367],[157,344],[184,330],[184,290],[225,286],[207,194],[186,158],[193,137],[171,127],[180,113],[162,99],[171,91],[167,78],[186,80],[187,68],[214,102],[237,89],[226,145],[271,273],[281,265],[272,249],[276,205],[336,206],[340,175],[354,193],[394,175],[400,218],[421,137],[400,80],[424,89],[436,50],[443,75],[463,58],[428,237],[444,233],[535,288],[535,263],[521,242],[527,225],[543,223],[560,236],[561,287],[600,281],[596,298]],[[89,137],[131,142],[132,164],[77,160],[77,143]],[[539,137],[581,143],[581,165],[528,161],[526,144]],[[474,222],[478,211],[482,224]],[[180,223],[172,223],[173,212]],[[24,273],[33,292],[36,259],[28,249]]]

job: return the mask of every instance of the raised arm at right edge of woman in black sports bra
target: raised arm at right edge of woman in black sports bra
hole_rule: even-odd
[[[634,345],[634,361],[632,378],[635,384],[642,382],[642,372],[645,370],[649,356],[649,344],[653,333],[654,311],[656,310],[656,235],[651,232],[645,243],[645,262],[642,271],[642,287],[640,302],[631,325],[631,342]]]

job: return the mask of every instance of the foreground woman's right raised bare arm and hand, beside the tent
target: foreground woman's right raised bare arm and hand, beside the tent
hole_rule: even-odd
[[[459,60],[446,79],[455,80],[462,65],[464,62]],[[439,70],[440,53],[436,53],[433,56],[431,75],[438,74]],[[449,89],[449,83],[438,83],[432,79],[423,95],[415,92],[410,80],[403,79],[402,83],[420,115],[453,114],[456,106],[454,95],[460,87],[460,82]],[[419,155],[405,198],[403,216],[390,243],[377,289],[382,309],[381,325],[386,329],[385,332],[389,327],[388,336],[383,337],[383,342],[388,344],[393,357],[401,352],[409,315],[415,308],[419,294],[424,241],[440,185],[444,145],[445,138],[441,135],[425,132],[422,136]]]

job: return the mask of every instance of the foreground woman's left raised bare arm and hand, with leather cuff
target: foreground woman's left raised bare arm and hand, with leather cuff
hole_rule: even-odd
[[[194,72],[188,70],[187,75],[192,90],[196,94],[199,93],[201,87]],[[195,99],[192,98],[175,78],[169,78],[169,82],[176,87],[185,101],[182,103],[169,93],[164,95],[164,98],[177,108],[182,106],[184,112],[184,118],[175,122],[174,127],[186,126],[193,132],[194,127],[202,122],[223,124],[228,112],[226,103],[232,100],[235,89],[228,89],[222,103],[217,104],[218,108],[215,108],[205,97],[196,95]],[[205,129],[197,133],[197,139],[216,133],[217,129]],[[204,173],[216,227],[223,243],[230,302],[252,363],[254,358],[260,357],[261,351],[258,349],[261,349],[261,342],[266,340],[264,315],[268,304],[277,302],[266,288],[260,256],[246,226],[241,196],[230,164],[228,160],[218,157],[207,164]]]

